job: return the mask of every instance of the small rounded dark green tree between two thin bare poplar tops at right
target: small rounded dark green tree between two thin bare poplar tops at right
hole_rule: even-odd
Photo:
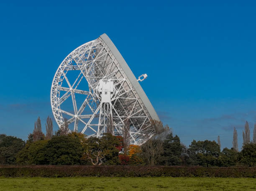
[[[236,149],[223,148],[218,158],[218,166],[235,166],[237,163],[238,152]]]

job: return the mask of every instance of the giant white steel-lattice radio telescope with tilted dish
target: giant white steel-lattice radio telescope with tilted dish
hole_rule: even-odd
[[[61,128],[87,136],[123,136],[141,145],[155,134],[151,119],[159,121],[128,64],[108,35],[73,50],[60,64],[51,85],[51,108]]]

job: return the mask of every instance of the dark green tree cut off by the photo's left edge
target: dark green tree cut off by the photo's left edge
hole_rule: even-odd
[[[13,136],[0,135],[0,163],[16,164],[17,153],[25,146],[25,141]]]

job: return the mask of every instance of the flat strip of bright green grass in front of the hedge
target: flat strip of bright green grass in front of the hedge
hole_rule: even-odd
[[[256,190],[255,178],[3,178],[0,190]]]

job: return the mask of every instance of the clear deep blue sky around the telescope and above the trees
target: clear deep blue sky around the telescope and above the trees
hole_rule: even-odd
[[[235,126],[241,147],[256,121],[255,1],[166,2],[1,1],[0,133],[26,139],[45,123],[61,61],[107,33],[185,145],[220,135],[230,148]]]

